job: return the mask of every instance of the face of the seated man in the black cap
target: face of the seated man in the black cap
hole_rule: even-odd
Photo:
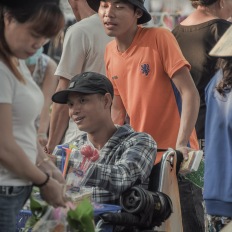
[[[69,116],[79,130],[93,133],[104,124],[106,107],[101,94],[70,93],[68,97]]]

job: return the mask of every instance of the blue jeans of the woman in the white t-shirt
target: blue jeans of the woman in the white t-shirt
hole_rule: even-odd
[[[0,231],[16,231],[17,215],[29,198],[31,190],[31,186],[12,186],[5,191],[0,186]]]

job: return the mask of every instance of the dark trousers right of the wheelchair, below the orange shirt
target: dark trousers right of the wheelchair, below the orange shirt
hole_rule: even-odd
[[[184,232],[204,232],[202,189],[184,177],[178,176],[180,205]]]

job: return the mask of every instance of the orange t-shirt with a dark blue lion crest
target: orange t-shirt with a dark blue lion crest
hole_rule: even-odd
[[[189,63],[176,39],[164,28],[138,27],[131,46],[118,52],[116,41],[106,47],[106,73],[120,95],[130,124],[150,134],[158,148],[175,148],[180,126],[181,97],[171,77]],[[183,77],[184,78],[184,77]],[[198,148],[196,134],[190,146]],[[161,159],[158,154],[156,162]]]

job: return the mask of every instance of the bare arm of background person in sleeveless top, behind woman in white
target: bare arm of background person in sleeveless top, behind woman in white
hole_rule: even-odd
[[[50,106],[52,104],[51,97],[56,90],[58,84],[58,78],[54,76],[56,70],[56,63],[54,60],[49,59],[45,77],[42,85],[42,91],[44,94],[44,106],[40,114],[40,123],[38,128],[38,140],[42,146],[47,144],[47,132],[50,121]]]

